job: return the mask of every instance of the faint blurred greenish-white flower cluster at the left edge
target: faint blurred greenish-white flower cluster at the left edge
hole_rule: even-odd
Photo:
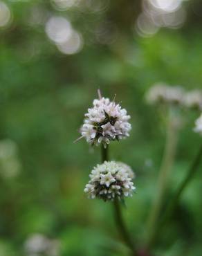
[[[17,144],[10,139],[0,140],[0,174],[4,178],[13,178],[21,171],[17,156]]]

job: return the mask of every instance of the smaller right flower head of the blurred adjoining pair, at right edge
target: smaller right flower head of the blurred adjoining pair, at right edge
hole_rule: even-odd
[[[185,93],[183,104],[190,109],[202,109],[202,91],[193,90]]]

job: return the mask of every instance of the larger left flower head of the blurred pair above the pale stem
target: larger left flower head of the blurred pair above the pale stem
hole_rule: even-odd
[[[146,100],[150,104],[181,104],[183,102],[183,89],[180,86],[168,86],[162,83],[154,84],[147,92]]]

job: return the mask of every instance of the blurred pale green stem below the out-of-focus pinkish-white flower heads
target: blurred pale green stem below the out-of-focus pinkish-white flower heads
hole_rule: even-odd
[[[154,240],[156,226],[158,225],[158,218],[160,210],[162,210],[163,198],[167,190],[167,182],[174,163],[174,156],[176,154],[176,145],[178,140],[178,125],[176,125],[176,118],[172,109],[169,109],[167,120],[167,136],[165,142],[165,149],[163,153],[163,160],[160,166],[158,176],[157,191],[152,205],[152,210],[148,220],[148,241],[147,247],[149,248]]]

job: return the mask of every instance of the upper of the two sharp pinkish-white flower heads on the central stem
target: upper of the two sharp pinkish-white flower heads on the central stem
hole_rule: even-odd
[[[129,136],[130,116],[119,104],[108,98],[93,100],[93,107],[85,114],[84,125],[80,130],[82,137],[91,145],[103,143],[106,147],[110,140],[120,140]]]

